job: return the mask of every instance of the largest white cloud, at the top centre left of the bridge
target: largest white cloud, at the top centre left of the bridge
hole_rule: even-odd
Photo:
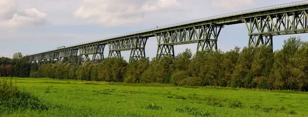
[[[106,26],[133,24],[144,20],[148,13],[180,8],[177,0],[83,0],[74,16]]]

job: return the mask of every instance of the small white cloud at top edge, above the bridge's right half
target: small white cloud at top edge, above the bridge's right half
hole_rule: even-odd
[[[213,0],[211,6],[214,8],[222,8],[233,10],[237,7],[253,5],[253,0]]]

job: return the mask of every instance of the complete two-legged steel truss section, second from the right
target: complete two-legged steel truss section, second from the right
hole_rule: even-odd
[[[174,55],[174,45],[198,43],[197,51],[217,50],[217,39],[223,25],[209,24],[156,34],[158,50],[156,58]]]

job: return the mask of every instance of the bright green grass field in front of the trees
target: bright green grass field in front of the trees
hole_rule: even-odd
[[[1,116],[307,116],[308,93],[14,78],[48,110]],[[13,79],[13,82],[15,80]],[[292,91],[291,91],[292,92]]]

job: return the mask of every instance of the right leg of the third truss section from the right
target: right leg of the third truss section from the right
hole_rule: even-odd
[[[137,37],[136,42],[133,44],[134,46],[131,49],[129,62],[133,62],[136,60],[140,60],[145,58],[145,44],[148,37],[141,38]]]

